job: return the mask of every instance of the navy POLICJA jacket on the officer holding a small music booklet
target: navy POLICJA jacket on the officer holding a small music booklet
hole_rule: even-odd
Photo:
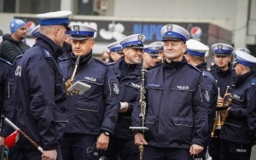
[[[58,61],[65,79],[72,77],[75,60],[69,56]],[[102,130],[113,133],[119,112],[119,83],[111,75],[108,66],[94,58],[92,52],[87,59],[80,59],[73,83],[80,81],[91,87],[84,94],[67,96],[65,133],[96,135]]]

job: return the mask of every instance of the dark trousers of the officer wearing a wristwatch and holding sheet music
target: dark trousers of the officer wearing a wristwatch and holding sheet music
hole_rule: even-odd
[[[63,160],[98,160],[97,135],[64,134],[61,140]]]

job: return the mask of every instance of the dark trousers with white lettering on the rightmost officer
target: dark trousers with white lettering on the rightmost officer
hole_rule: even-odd
[[[220,145],[220,160],[250,160],[252,146],[236,144],[227,140],[221,140]]]

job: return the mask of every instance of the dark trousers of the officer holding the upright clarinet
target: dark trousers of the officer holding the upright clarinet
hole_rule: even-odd
[[[143,160],[192,160],[189,149],[144,146]]]

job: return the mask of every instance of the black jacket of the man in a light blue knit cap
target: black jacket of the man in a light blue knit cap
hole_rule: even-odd
[[[11,35],[6,34],[3,35],[3,42],[0,45],[0,57],[13,63],[18,55],[25,53],[26,49],[30,47],[22,41],[15,41]]]

